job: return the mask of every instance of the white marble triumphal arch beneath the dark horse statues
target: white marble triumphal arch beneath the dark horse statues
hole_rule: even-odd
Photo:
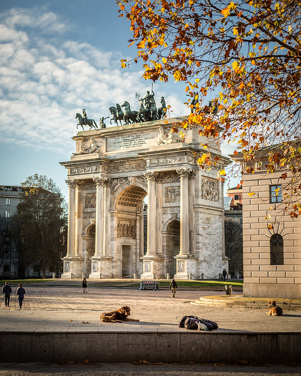
[[[185,118],[80,131],[68,162],[68,252],[62,277],[200,278],[228,269],[220,156],[199,168],[206,140],[171,128]],[[218,154],[218,149],[211,149]],[[147,196],[147,200],[146,200]],[[143,225],[147,202],[147,227]],[[146,247],[144,247],[146,238]]]

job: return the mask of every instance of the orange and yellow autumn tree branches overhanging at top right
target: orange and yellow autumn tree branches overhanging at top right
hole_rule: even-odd
[[[182,124],[199,126],[215,142],[235,142],[234,154],[247,161],[244,173],[256,168],[288,168],[288,206],[292,216],[301,204],[292,192],[301,189],[300,77],[301,2],[298,0],[117,0],[120,16],[130,21],[143,77],[186,83],[192,113]],[[122,60],[122,66],[129,62]],[[208,105],[206,97],[214,98]],[[192,104],[195,99],[198,103]],[[214,108],[218,113],[214,116]],[[266,165],[256,166],[262,147]],[[201,166],[216,163],[208,153]],[[249,163],[248,163],[249,162]],[[221,172],[222,178],[225,172]],[[283,178],[287,178],[287,174]]]

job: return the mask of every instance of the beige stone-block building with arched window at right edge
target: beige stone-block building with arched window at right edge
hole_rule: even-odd
[[[301,218],[284,213],[282,187],[289,170],[268,174],[268,153],[268,147],[262,149],[254,174],[243,173],[249,166],[243,156],[231,156],[243,173],[243,295],[300,298]],[[285,171],[286,181],[280,178]]]

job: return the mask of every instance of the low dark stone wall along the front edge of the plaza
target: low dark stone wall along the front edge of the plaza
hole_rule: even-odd
[[[299,333],[0,334],[5,362],[298,362]]]

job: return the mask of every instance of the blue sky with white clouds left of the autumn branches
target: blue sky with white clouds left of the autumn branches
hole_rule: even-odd
[[[85,108],[99,124],[116,103],[138,110],[135,93],[152,88],[141,65],[121,68],[120,59],[136,56],[129,39],[115,0],[0,1],[1,185],[46,175],[68,200],[59,162],[75,152],[77,112]],[[189,114],[183,87],[154,84],[157,105],[163,96],[171,117]]]

